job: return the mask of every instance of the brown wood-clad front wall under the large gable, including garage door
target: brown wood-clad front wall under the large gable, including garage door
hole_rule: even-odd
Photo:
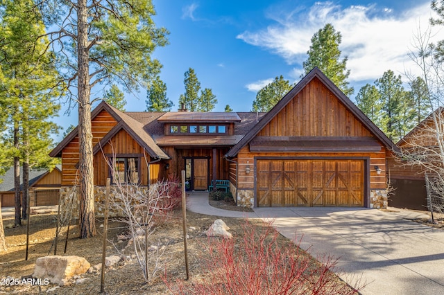
[[[341,99],[316,77],[287,98],[237,153],[237,189],[255,206],[368,206],[386,188],[386,144]]]

